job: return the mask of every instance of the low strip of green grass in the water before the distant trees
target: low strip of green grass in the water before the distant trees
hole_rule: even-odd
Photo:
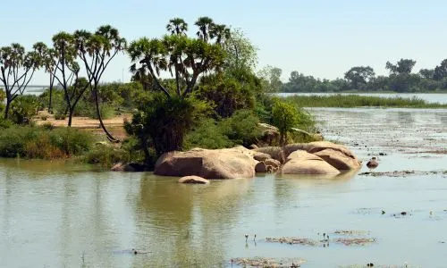
[[[287,101],[299,107],[402,107],[402,108],[447,108],[447,105],[428,103],[417,97],[380,97],[359,95],[333,96],[288,96]]]

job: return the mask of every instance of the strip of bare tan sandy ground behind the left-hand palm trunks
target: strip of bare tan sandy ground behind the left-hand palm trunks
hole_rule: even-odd
[[[45,113],[47,116],[46,120],[42,120],[42,115],[44,115],[45,112],[40,112],[38,116],[34,118],[34,121],[38,125],[42,125],[45,123],[52,123],[54,126],[62,127],[68,125],[68,117],[64,120],[55,120],[55,116],[53,114]],[[125,130],[123,129],[124,120],[131,120],[131,114],[122,114],[115,116],[111,119],[105,119],[104,124],[105,128],[109,130],[114,138],[123,139],[127,137],[127,134]],[[97,135],[104,135],[104,131],[101,129],[101,126],[99,125],[99,121],[97,119],[91,119],[89,117],[73,117],[72,118],[72,128],[82,129],[82,130],[89,130],[94,132]],[[104,135],[105,137],[105,135]]]

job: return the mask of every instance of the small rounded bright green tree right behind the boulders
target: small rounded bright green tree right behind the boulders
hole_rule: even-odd
[[[287,133],[299,122],[297,109],[293,105],[277,100],[272,107],[272,121],[280,131],[280,143],[284,145]]]

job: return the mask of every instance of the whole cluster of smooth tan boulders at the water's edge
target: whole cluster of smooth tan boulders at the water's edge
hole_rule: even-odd
[[[154,173],[175,177],[236,179],[253,178],[256,172],[337,175],[342,171],[356,170],[360,166],[358,158],[347,147],[327,141],[316,141],[252,150],[234,147],[170,152],[158,159]],[[190,178],[179,182],[185,181],[196,180]]]

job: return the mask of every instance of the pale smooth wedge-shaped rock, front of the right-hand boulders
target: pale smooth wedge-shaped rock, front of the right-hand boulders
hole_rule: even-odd
[[[338,175],[340,172],[321,157],[309,154],[304,150],[298,150],[289,157],[282,168],[283,174],[331,174]]]

